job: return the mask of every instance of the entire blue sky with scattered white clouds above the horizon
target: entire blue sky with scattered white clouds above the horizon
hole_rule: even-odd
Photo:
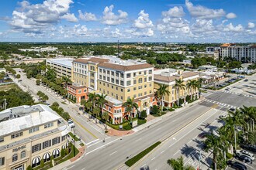
[[[2,1],[0,41],[256,42],[254,0]]]

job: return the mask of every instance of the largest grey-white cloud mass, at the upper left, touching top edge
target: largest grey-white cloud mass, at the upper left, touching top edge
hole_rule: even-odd
[[[74,22],[75,16],[68,13],[72,0],[45,0],[42,4],[19,2],[20,8],[12,12],[12,29],[22,32],[42,32],[46,27],[59,22],[62,17]]]

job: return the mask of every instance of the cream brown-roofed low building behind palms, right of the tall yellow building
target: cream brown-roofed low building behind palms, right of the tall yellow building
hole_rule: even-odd
[[[184,89],[175,87],[175,80],[182,80]],[[163,69],[154,71],[154,90],[159,88],[159,84],[168,86],[169,95],[164,96],[164,105],[173,107],[179,99],[185,100],[187,95],[198,97],[199,90],[196,87],[187,87],[189,80],[199,80],[199,73],[174,69]]]

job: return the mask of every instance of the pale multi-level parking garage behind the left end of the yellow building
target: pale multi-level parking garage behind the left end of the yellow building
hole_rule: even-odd
[[[71,58],[47,59],[47,66],[56,71],[57,78],[61,76],[71,78],[73,60]]]

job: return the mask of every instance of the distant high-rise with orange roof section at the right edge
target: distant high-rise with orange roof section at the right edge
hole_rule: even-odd
[[[256,63],[256,45],[236,46],[235,44],[225,43],[220,46],[220,56],[222,59],[231,57],[237,59],[237,61]]]

